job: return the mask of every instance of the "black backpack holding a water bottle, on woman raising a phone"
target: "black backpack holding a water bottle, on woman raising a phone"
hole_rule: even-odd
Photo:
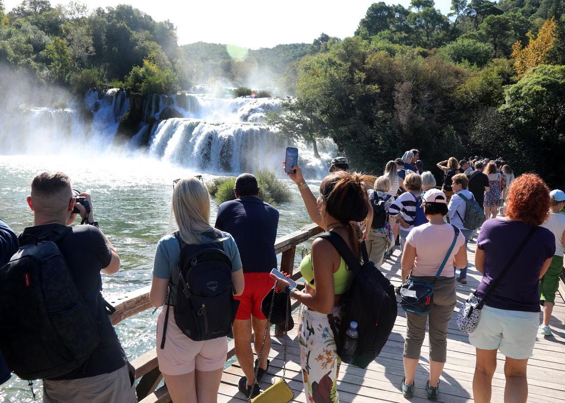
[[[357,322],[359,339],[352,364],[365,368],[380,354],[396,321],[398,309],[394,287],[375,267],[375,263],[369,260],[365,242],[361,244],[361,264],[337,233],[325,232],[320,237],[332,242],[349,270],[354,273],[351,287],[342,302],[340,331],[336,329],[333,316],[328,315],[334,335],[338,335],[337,354],[342,352],[345,332],[350,323]]]

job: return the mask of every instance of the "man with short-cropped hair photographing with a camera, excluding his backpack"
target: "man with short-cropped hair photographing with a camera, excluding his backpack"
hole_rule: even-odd
[[[88,193],[79,196],[90,202]],[[75,204],[71,180],[63,172],[42,172],[34,177],[27,201],[33,210],[34,226],[24,229],[20,242],[24,242],[27,235],[41,236],[66,228],[75,205],[81,217],[90,224],[72,227],[56,243],[82,300],[101,324],[99,344],[81,366],[56,379],[44,379],[44,402],[137,402],[132,371],[101,298],[100,272],[117,272],[120,258],[111,242],[98,229],[98,223],[94,222],[92,202],[90,213],[84,206]]]

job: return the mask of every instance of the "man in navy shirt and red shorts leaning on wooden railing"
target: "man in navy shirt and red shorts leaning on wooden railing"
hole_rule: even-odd
[[[236,200],[221,203],[218,207],[216,228],[229,232],[236,240],[240,250],[245,277],[245,291],[241,296],[236,320],[233,322],[233,337],[236,356],[245,376],[240,379],[238,388],[249,396],[253,384],[254,364],[251,350],[251,328],[255,333],[255,353],[259,354],[267,319],[261,312],[261,301],[273,287],[269,275],[277,267],[275,239],[279,226],[279,211],[259,198],[257,179],[251,174],[241,174],[236,179]],[[271,340],[267,337],[258,380],[267,372],[267,359]],[[259,392],[256,386],[254,396]]]

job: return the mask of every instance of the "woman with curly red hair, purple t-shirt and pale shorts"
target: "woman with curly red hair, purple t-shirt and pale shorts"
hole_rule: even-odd
[[[479,324],[469,335],[477,352],[473,377],[476,403],[490,402],[498,350],[506,356],[504,401],[527,401],[526,368],[540,320],[538,282],[555,253],[553,233],[538,227],[549,209],[549,188],[544,181],[535,174],[519,176],[510,186],[506,202],[506,218],[485,221],[475,250],[475,267],[483,273],[477,288],[479,299],[516,256],[490,291]]]

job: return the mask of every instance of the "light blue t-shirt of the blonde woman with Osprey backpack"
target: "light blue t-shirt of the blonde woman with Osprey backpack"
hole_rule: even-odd
[[[225,254],[232,261],[232,272],[241,270],[240,252],[237,249],[236,241],[227,233],[221,231],[225,238],[222,242]],[[214,242],[214,240],[210,240]],[[180,245],[174,235],[169,234],[162,237],[157,243],[155,259],[153,261],[153,275],[159,279],[171,279],[172,293],[171,304],[175,305],[176,288],[179,283],[179,264]]]

